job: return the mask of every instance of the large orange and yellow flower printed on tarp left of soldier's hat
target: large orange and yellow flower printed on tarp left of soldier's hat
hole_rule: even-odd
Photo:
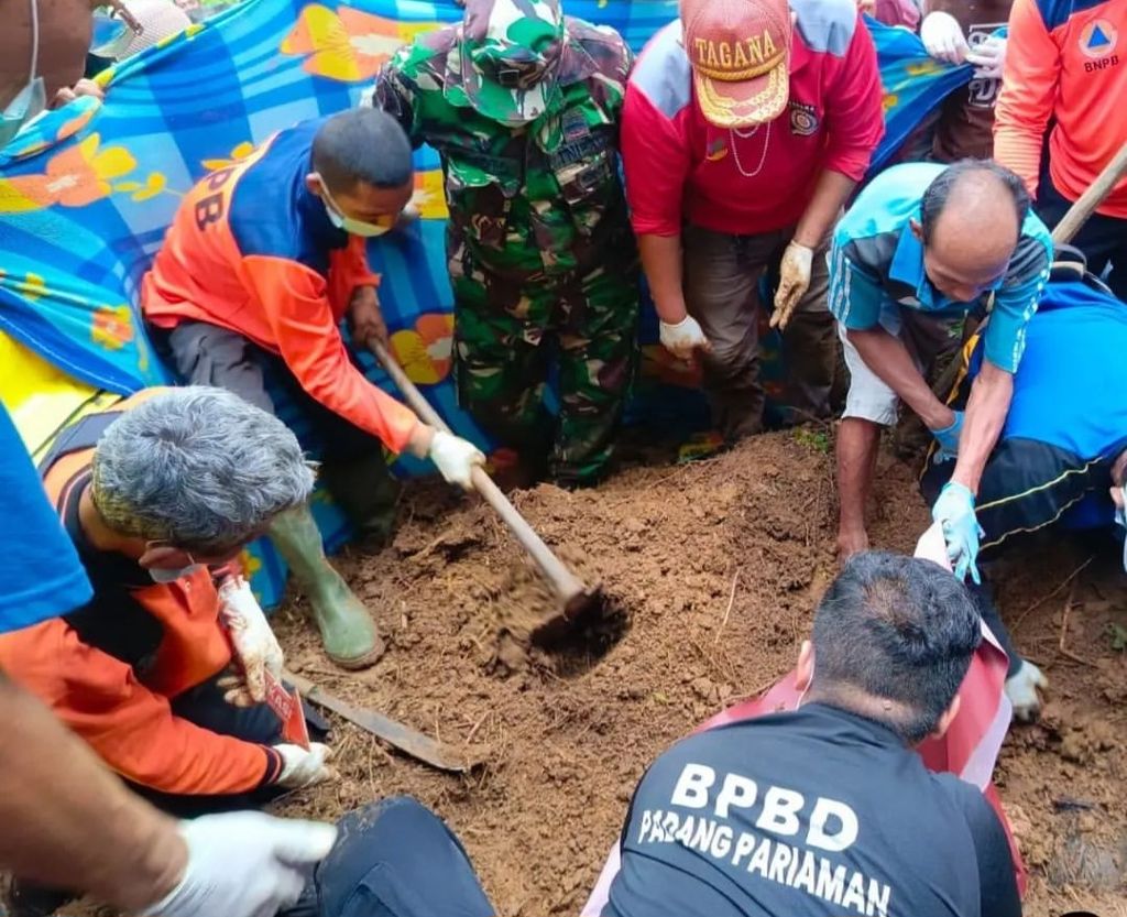
[[[350,7],[337,7],[334,12],[321,3],[310,3],[279,50],[283,54],[305,55],[302,69],[307,73],[358,82],[379,73],[408,39],[401,24],[393,19]]]

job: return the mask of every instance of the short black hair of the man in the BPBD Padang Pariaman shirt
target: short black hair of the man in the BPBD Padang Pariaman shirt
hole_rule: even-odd
[[[982,640],[979,621],[950,571],[884,550],[857,554],[814,616],[814,688],[828,700],[838,689],[894,702],[885,722],[914,744],[951,705]]]

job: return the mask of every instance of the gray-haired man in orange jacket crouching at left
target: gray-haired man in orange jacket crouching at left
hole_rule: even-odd
[[[227,566],[312,491],[285,424],[222,389],[145,389],[64,430],[39,473],[94,598],[0,634],[0,670],[175,814],[329,777],[261,703],[282,651]]]

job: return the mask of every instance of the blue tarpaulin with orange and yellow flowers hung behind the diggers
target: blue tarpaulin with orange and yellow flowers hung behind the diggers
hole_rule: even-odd
[[[672,0],[569,0],[567,7],[619,29],[638,50],[676,16]],[[104,104],[83,98],[48,113],[0,150],[0,328],[97,388],[126,394],[168,381],[136,303],[183,195],[208,169],[246,157],[275,131],[355,105],[398,46],[461,14],[452,0],[249,0],[104,73]],[[970,69],[935,63],[904,29],[872,24],[872,33],[886,89],[879,167]],[[453,318],[437,157],[424,149],[416,165],[424,219],[370,246],[382,274],[384,317],[408,374],[455,430],[488,447],[458,409],[450,379]],[[656,341],[650,309],[642,320],[642,400],[654,386],[695,398],[696,378]],[[766,361],[765,373],[770,389],[781,369]],[[666,412],[680,404],[651,400]],[[339,519],[326,524],[336,534],[329,540],[339,541]],[[279,563],[259,548],[255,554]],[[264,601],[277,599],[279,583],[256,585]]]

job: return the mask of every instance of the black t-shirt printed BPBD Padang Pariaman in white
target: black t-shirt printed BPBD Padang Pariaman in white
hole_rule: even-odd
[[[1019,917],[977,788],[824,704],[691,735],[642,777],[603,917]]]

